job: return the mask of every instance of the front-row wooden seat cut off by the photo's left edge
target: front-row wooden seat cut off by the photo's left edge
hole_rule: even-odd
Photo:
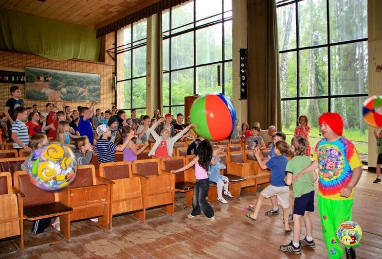
[[[13,190],[9,172],[0,173],[0,204],[0,240],[18,235],[23,237],[22,195]],[[17,239],[17,246],[22,253],[24,242],[20,238]]]

